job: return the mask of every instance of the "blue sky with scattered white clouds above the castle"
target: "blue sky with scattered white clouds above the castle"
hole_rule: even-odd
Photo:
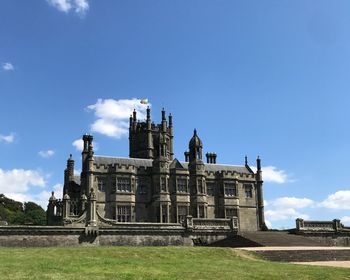
[[[174,116],[177,158],[193,128],[220,163],[260,155],[273,227],[350,224],[349,11],[348,1],[2,0],[0,193],[45,205],[70,153],[79,171],[72,143],[86,132],[97,154],[128,156],[123,123],[148,98],[155,121],[162,107]]]

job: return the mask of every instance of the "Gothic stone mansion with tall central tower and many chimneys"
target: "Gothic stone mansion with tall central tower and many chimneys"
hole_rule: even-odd
[[[256,231],[264,225],[260,159],[257,172],[244,165],[216,163],[196,130],[185,161],[174,158],[172,116],[156,125],[147,109],[145,121],[136,111],[130,117],[129,158],[94,155],[93,136],[84,135],[82,172],[74,174],[70,157],[64,172],[64,197],[49,200],[48,224],[71,221],[98,223],[181,223],[186,217],[230,219],[240,230]],[[85,213],[85,214],[84,214]]]

